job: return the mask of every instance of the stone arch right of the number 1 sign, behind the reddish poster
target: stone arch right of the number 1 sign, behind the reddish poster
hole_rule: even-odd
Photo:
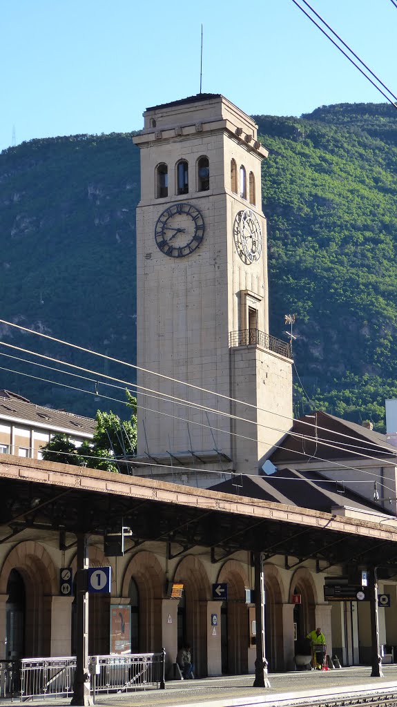
[[[139,595],[139,650],[143,653],[162,648],[162,595],[165,573],[153,552],[137,552],[126,566],[122,581],[122,597],[129,597],[129,586],[134,579]]]

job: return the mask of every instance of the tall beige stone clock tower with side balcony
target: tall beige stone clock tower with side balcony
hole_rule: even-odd
[[[134,137],[138,458],[150,469],[139,473],[211,486],[222,472],[258,473],[292,424],[289,346],[268,333],[267,151],[222,95],[144,119]]]

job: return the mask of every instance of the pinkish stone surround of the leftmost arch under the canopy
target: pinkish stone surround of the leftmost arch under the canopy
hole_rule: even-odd
[[[51,655],[52,597],[58,595],[58,575],[47,550],[33,540],[18,543],[8,553],[0,573],[0,594],[6,595],[11,570],[25,583],[25,653],[30,658]]]

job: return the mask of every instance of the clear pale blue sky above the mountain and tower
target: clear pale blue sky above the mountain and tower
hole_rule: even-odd
[[[397,95],[390,0],[312,6]],[[141,129],[150,105],[199,90],[249,114],[383,102],[292,0],[0,0],[0,150],[35,137]],[[396,112],[397,119],[397,112]]]

